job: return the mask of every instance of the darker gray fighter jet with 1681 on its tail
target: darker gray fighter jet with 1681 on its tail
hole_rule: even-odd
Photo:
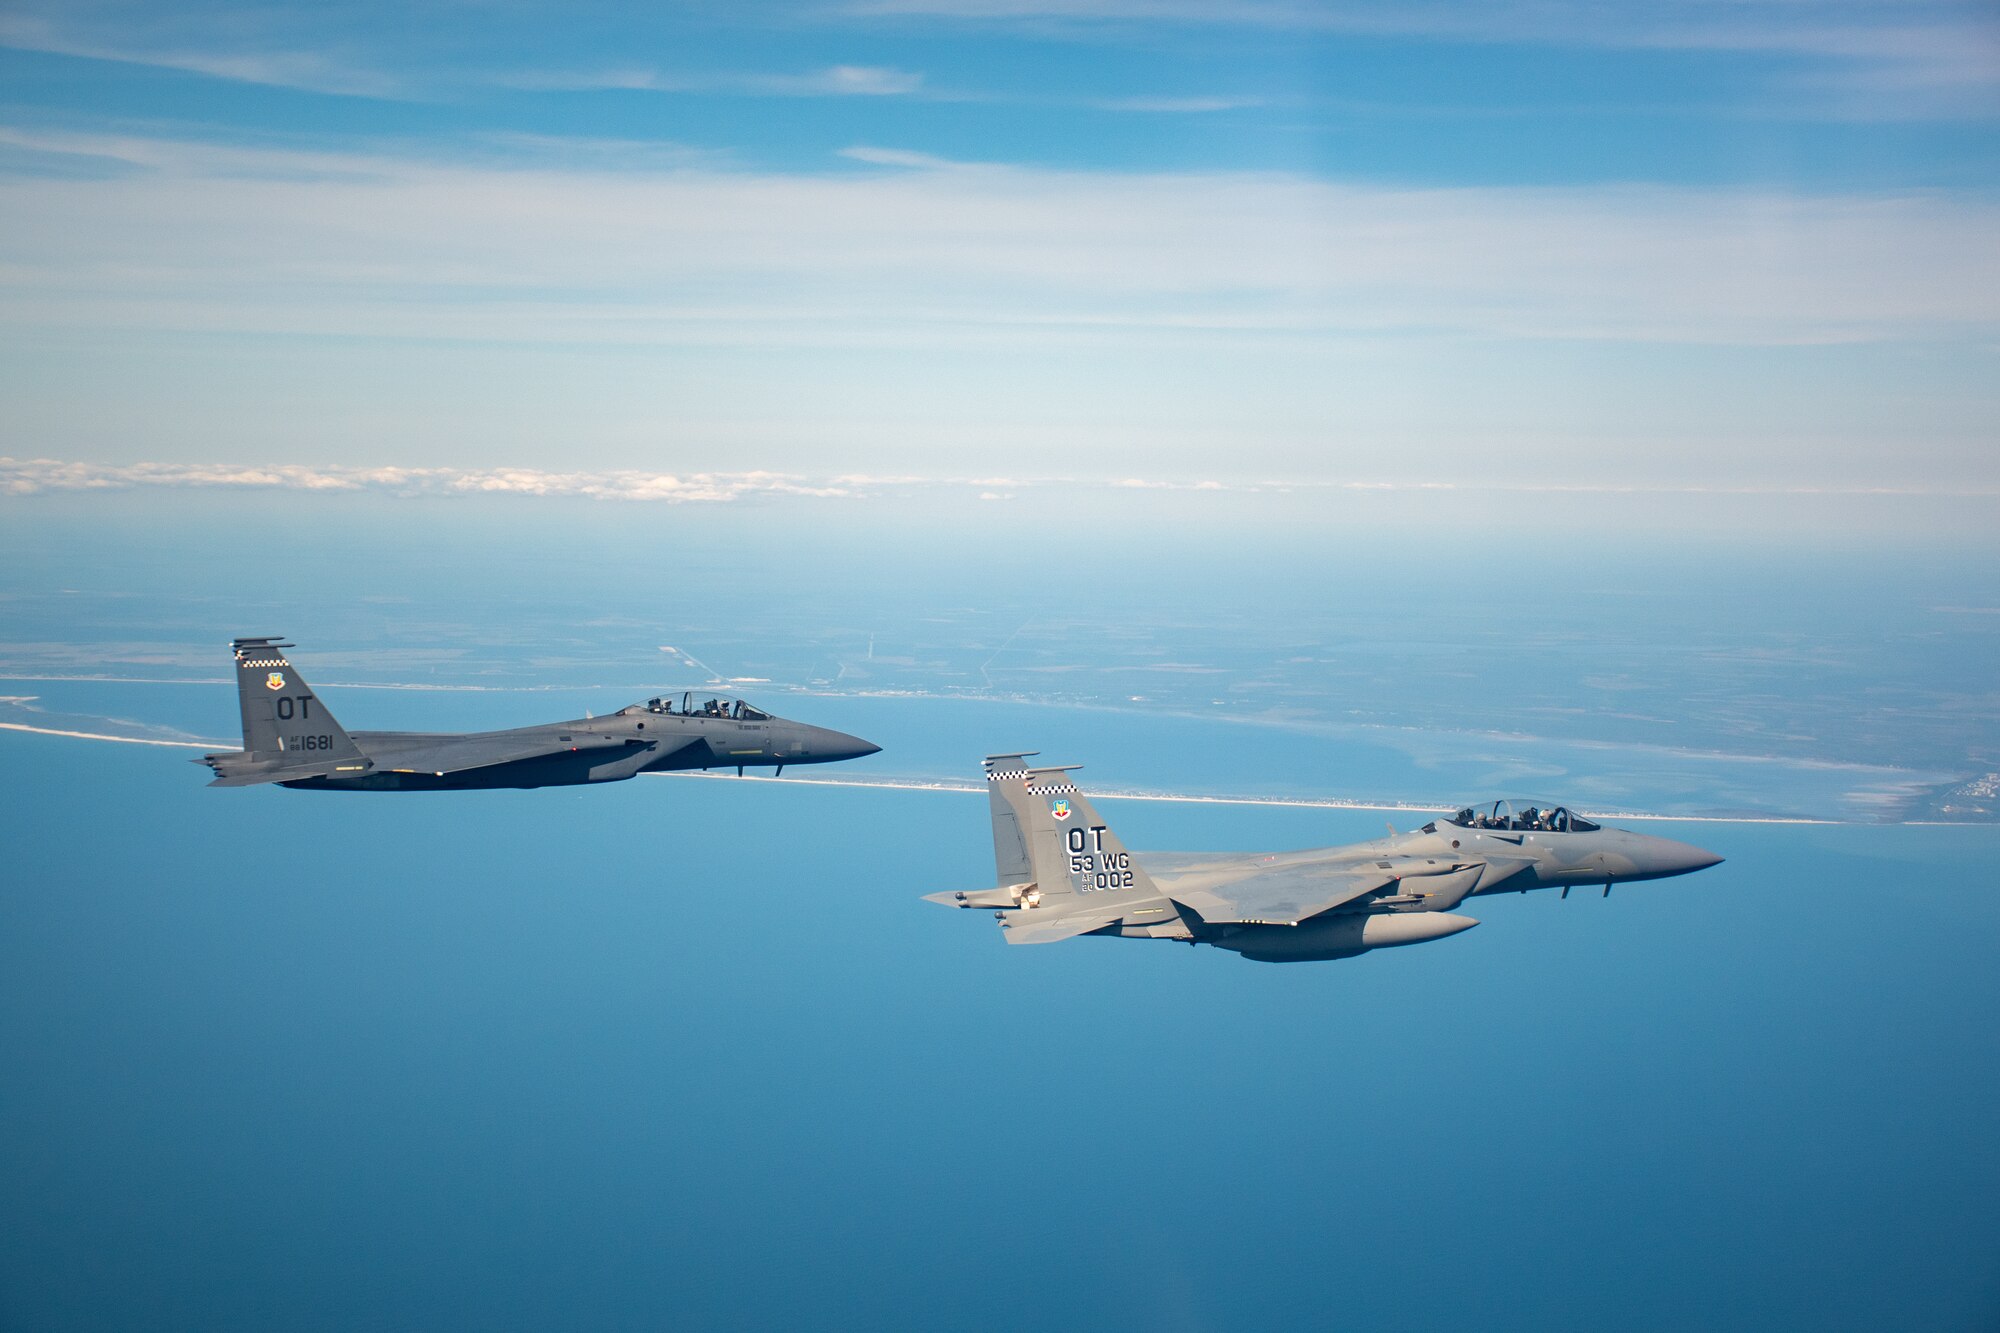
[[[648,699],[604,717],[514,731],[344,731],[276,638],[238,638],[244,749],[204,755],[210,787],[278,783],[312,791],[468,791],[618,783],[672,769],[826,765],[880,745],[788,723],[744,701]]]

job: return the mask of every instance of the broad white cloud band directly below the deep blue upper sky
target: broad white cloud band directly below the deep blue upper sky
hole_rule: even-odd
[[[560,170],[0,130],[0,322],[934,346],[1460,332],[1716,344],[2000,330],[1976,194],[1416,190],[940,164]]]

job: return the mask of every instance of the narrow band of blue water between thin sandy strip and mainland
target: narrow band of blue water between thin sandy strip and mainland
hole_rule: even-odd
[[[312,671],[310,654],[296,654]],[[314,675],[318,675],[314,671]],[[390,689],[314,681],[352,731],[482,731],[610,713],[662,687],[626,689]],[[10,681],[24,705],[0,703],[0,721],[90,735],[130,735],[234,749],[234,687],[150,681]],[[794,769],[816,781],[978,783],[978,759],[1038,751],[1046,763],[1088,769],[1100,791],[1222,799],[1346,801],[1452,809],[1498,793],[1584,811],[1686,813],[1748,807],[1852,817],[1856,791],[1896,791],[1912,775],[1856,765],[1744,763],[1710,753],[1560,745],[1520,737],[1452,737],[1414,729],[1272,727],[1228,709],[1144,713],[992,699],[750,693],[782,717],[866,737],[886,755],[844,769]],[[188,749],[188,757],[202,747]],[[1866,807],[1858,811],[1868,817]]]

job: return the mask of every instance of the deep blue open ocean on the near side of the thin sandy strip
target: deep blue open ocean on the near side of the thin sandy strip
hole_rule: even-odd
[[[1986,1327],[1990,829],[1324,967],[1008,949],[956,793],[0,737],[0,1325]],[[1106,803],[1138,847],[1350,811]]]

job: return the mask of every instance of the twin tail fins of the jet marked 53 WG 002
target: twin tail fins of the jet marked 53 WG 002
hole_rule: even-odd
[[[986,795],[1000,885],[1036,885],[1042,897],[1156,895],[1146,871],[1070,781],[1072,767],[1030,769],[1028,755],[992,755]]]

